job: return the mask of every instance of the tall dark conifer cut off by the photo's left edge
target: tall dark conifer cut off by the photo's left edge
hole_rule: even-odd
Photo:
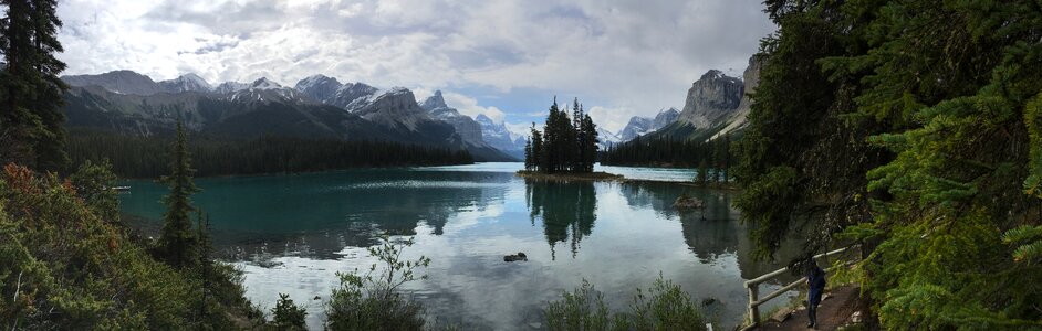
[[[61,170],[65,154],[62,95],[65,63],[55,36],[62,25],[55,0],[0,0],[0,161]]]

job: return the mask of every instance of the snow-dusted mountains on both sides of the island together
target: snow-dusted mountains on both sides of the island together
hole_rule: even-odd
[[[601,148],[637,137],[708,140],[746,126],[761,63],[752,57],[742,78],[711,70],[691,84],[682,110],[634,116],[618,132],[598,127]],[[523,157],[527,137],[484,115],[471,118],[440,90],[417,102],[403,87],[381,89],[313,75],[286,87],[261,77],[211,85],[195,74],[155,82],[132,71],[62,77],[71,127],[133,135],[168,135],[183,116],[191,130],[231,137],[284,135],[345,140],[389,140],[466,149],[481,161]]]

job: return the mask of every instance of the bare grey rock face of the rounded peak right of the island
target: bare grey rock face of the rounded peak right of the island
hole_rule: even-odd
[[[679,120],[696,129],[719,125],[738,109],[744,88],[741,79],[711,70],[688,89]]]

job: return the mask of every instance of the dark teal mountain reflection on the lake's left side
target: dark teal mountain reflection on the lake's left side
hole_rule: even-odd
[[[194,196],[213,224],[221,258],[302,256],[336,259],[376,234],[442,235],[461,211],[502,204],[512,173],[365,170],[280,177],[199,179]],[[132,181],[121,195],[125,218],[158,233],[166,188]],[[421,226],[423,225],[423,226]]]

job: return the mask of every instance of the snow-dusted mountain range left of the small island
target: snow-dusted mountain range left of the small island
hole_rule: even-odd
[[[517,159],[487,143],[480,125],[448,107],[440,92],[420,106],[407,88],[323,75],[295,87],[263,77],[213,87],[195,74],[155,82],[131,71],[62,78],[72,86],[65,95],[70,127],[168,135],[181,116],[189,129],[217,136],[387,140],[466,149],[480,161]]]

